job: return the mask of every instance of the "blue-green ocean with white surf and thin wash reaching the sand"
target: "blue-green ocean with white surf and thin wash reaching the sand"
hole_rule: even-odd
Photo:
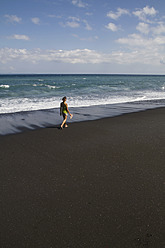
[[[59,125],[63,96],[70,122],[164,107],[165,76],[0,75],[0,134]]]

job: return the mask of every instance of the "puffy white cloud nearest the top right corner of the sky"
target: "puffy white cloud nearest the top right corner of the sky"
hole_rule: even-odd
[[[154,17],[158,11],[155,10],[154,7],[146,6],[143,9],[139,9],[133,12],[135,16],[137,16],[142,21],[147,21],[147,16]]]

